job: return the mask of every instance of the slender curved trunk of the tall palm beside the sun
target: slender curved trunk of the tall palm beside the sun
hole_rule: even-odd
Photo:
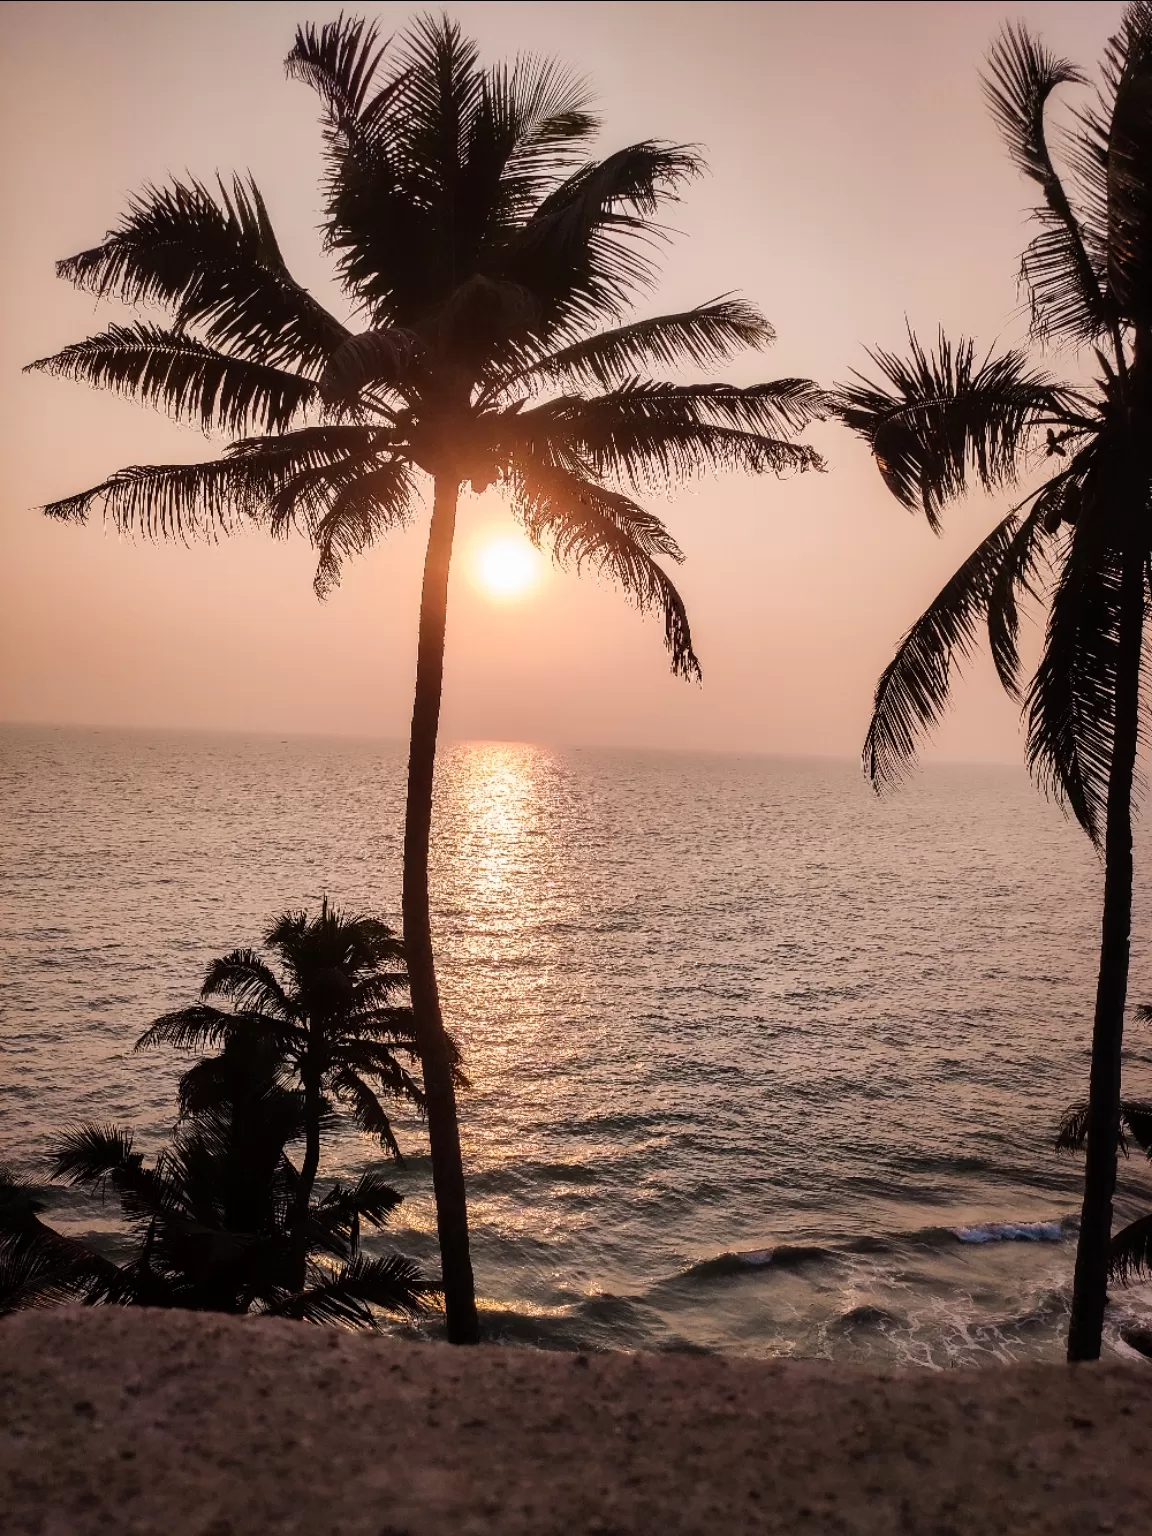
[[[429,915],[429,839],[432,831],[432,776],[436,766],[436,733],[444,680],[444,625],[449,610],[449,565],[456,528],[459,484],[436,476],[424,590],[419,605],[416,651],[416,700],[412,708],[409,750],[409,803],[404,819],[404,952],[409,963],[416,1043],[424,1068],[424,1094],[432,1143],[432,1183],[436,1192],[444,1307],[449,1341],[476,1344],[479,1319],[468,1256],[468,1204],[464,1161],[459,1149],[456,1089],[452,1055],[436,988]]]

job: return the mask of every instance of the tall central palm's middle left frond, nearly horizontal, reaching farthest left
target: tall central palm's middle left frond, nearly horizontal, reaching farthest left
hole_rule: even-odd
[[[109,326],[51,358],[38,370],[155,406],[204,432],[281,432],[315,399],[316,386],[298,373],[233,358],[184,330],[138,321]]]

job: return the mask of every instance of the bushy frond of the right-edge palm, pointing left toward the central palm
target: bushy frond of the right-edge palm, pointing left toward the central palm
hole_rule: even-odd
[[[882,382],[856,375],[834,409],[869,445],[895,499],[938,528],[942,505],[963,495],[969,470],[986,490],[1015,479],[1029,433],[1064,396],[1021,352],[977,362],[972,341],[952,346],[943,332],[932,352],[912,330],[908,343],[906,358],[871,352]]]

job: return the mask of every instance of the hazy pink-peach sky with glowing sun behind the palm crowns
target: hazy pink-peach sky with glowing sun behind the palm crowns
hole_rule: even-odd
[[[358,8],[352,8],[358,9]],[[214,445],[126,401],[22,364],[117,312],[58,283],[143,183],[250,170],[296,278],[347,313],[319,252],[316,98],[284,78],[300,20],[338,5],[6,5],[0,9],[0,717],[401,736],[415,660],[422,525],[393,535],[319,604],[300,542],[120,541],[49,524],[45,501],[123,464]],[[413,14],[367,6],[386,31]],[[740,382],[843,378],[905,316],[983,343],[1023,332],[1026,184],[988,121],[977,69],[1021,18],[1095,66],[1120,5],[453,5],[487,58],[554,52],[594,81],[604,146],[705,147],[711,174],[673,223],[651,309],[728,290],[776,347]],[[449,619],[445,733],[851,754],[876,677],[943,578],[992,525],[974,498],[943,539],[823,427],[826,475],[699,481],[660,510],[703,662],[668,676],[660,630],[610,587],[561,573],[496,604],[475,545],[510,518],[464,510]],[[934,751],[1018,754],[989,667],[958,690]]]

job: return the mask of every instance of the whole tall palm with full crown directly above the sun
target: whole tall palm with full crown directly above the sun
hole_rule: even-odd
[[[223,429],[215,461],[120,470],[57,501],[83,521],[177,538],[246,516],[303,525],[326,591],[341,562],[410,521],[432,484],[404,826],[404,943],[424,1066],[449,1335],[478,1321],[429,917],[432,779],[462,487],[498,485],[528,536],[596,568],[664,619],[673,671],[699,676],[665,565],[680,551],[636,499],[700,470],[819,465],[790,441],[822,407],[805,379],[685,384],[773,332],[743,300],[628,321],[651,286],[657,215],[697,175],[691,147],[645,140],[594,160],[585,84],[522,57],[481,68],[449,20],[389,54],[375,28],[304,26],[289,74],[321,98],[324,238],[359,330],[290,276],[252,181],[146,189],[103,244],[60,264],[170,324],[109,326],[34,367]]]

